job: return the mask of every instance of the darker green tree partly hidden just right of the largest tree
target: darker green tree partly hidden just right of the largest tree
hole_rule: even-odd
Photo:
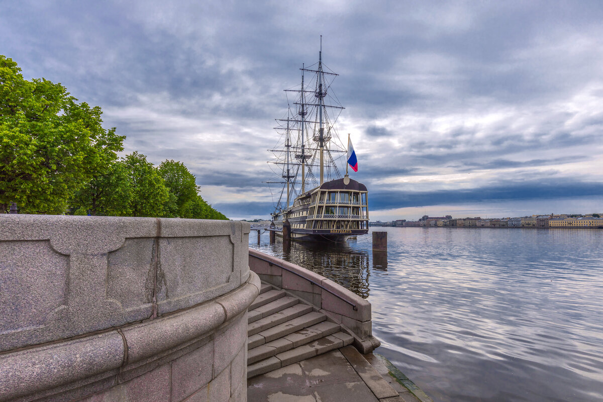
[[[90,215],[130,216],[132,193],[128,169],[120,160],[77,190],[69,204],[75,210],[90,210]]]

